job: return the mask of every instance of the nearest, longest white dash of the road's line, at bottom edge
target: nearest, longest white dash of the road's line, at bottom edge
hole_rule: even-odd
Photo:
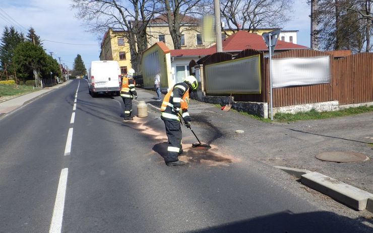
[[[59,176],[57,194],[54,201],[54,208],[52,220],[50,222],[49,233],[60,233],[62,229],[62,220],[64,218],[65,208],[66,186],[68,183],[68,173],[69,169],[64,168],[63,170],[61,170],[61,175]]]

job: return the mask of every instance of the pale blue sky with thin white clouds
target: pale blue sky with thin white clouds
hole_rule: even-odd
[[[309,47],[310,7],[307,0],[294,0],[292,20],[283,30],[298,30],[297,43]],[[87,32],[83,20],[76,17],[70,0],[1,0],[0,36],[5,26],[14,26],[26,36],[32,27],[40,37],[43,48],[54,59],[72,69],[78,54],[87,69],[91,61],[99,60],[103,35]]]

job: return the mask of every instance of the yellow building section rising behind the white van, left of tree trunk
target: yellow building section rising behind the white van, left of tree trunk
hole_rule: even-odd
[[[130,45],[124,31],[109,29],[101,42],[100,60],[116,60],[119,63],[120,73],[126,74],[132,68]]]

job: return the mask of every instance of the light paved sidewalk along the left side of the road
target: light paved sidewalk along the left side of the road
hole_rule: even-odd
[[[66,81],[63,84],[58,84],[53,87],[46,87],[40,91],[28,93],[22,96],[18,96],[16,98],[3,101],[0,103],[0,117],[4,114],[10,113],[19,107],[23,106],[24,104],[29,103],[30,101],[45,95],[46,93],[52,91],[53,89],[64,87],[65,85],[68,85],[71,81]]]

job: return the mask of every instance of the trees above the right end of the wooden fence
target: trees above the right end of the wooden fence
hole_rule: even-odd
[[[318,0],[316,31],[325,50],[351,49],[369,52],[373,35],[372,0]]]

